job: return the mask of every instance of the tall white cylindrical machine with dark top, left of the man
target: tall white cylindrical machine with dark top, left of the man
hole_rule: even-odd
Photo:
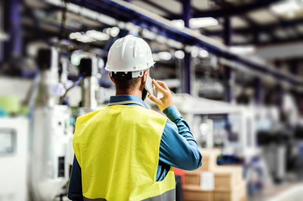
[[[38,52],[40,83],[33,113],[30,184],[33,200],[54,200],[69,180],[72,130],[70,109],[58,105],[65,88],[59,82],[59,51]]]

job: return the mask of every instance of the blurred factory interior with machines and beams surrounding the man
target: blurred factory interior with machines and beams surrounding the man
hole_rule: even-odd
[[[115,95],[107,55],[128,34],[203,156],[175,170],[177,201],[303,199],[303,1],[4,0],[0,201],[69,200],[76,118]]]

